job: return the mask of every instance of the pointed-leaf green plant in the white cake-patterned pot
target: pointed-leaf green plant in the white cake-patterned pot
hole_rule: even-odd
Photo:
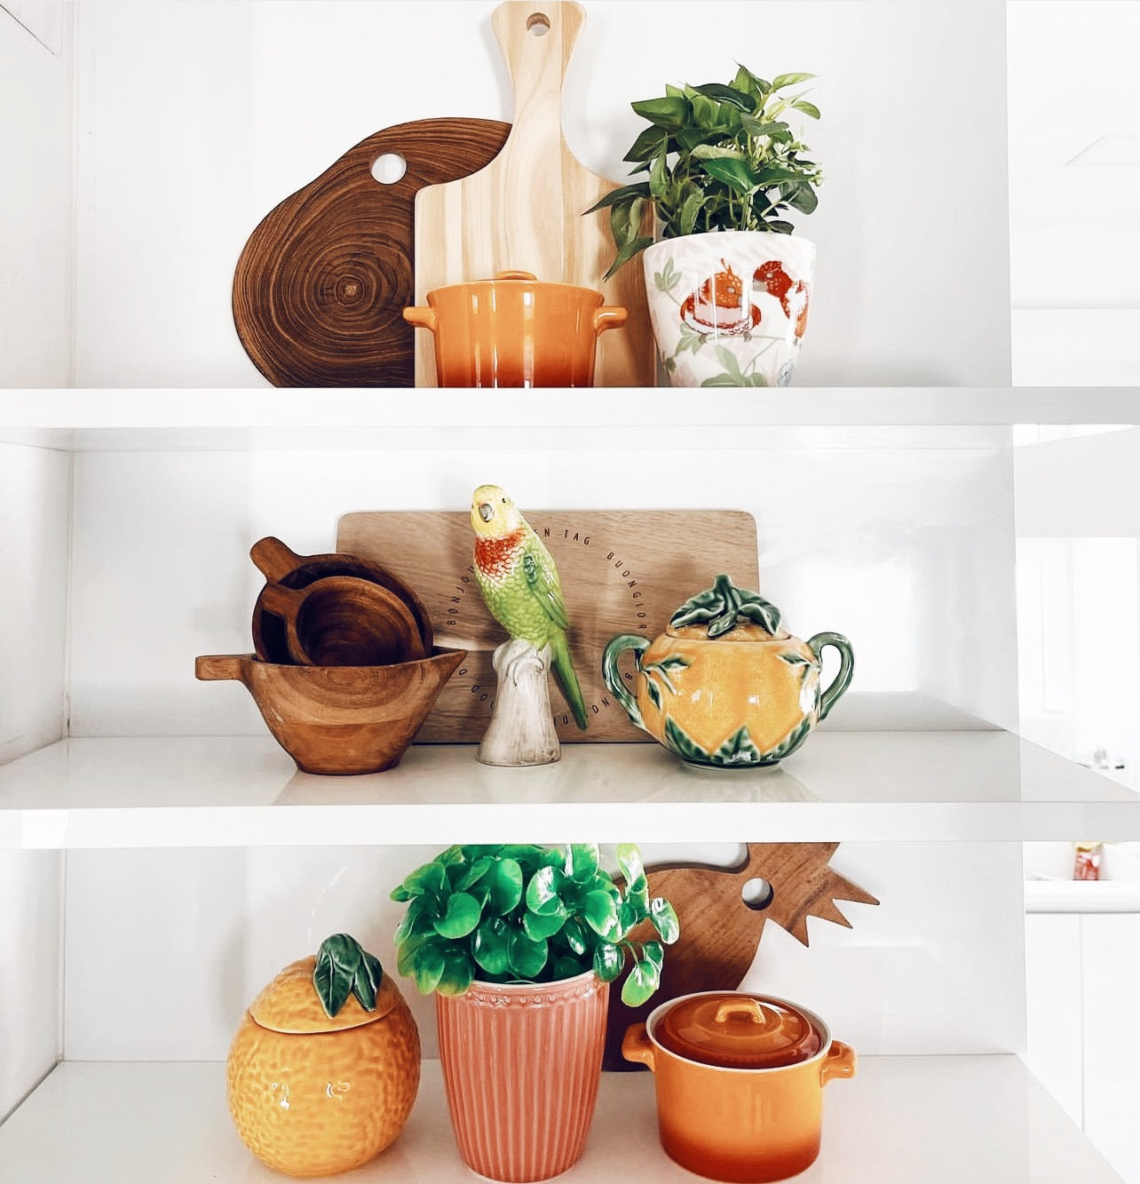
[[[715,230],[791,234],[784,214],[816,208],[823,173],[782,116],[794,110],[819,118],[803,94],[787,94],[813,77],[767,82],[740,66],[728,85],[670,85],[662,98],[633,103],[650,126],[624,159],[635,163],[632,175],[649,173],[649,180],[621,186],[586,211],[610,208],[617,256],[606,278],[652,244],[642,233],[650,208],[661,238]]]

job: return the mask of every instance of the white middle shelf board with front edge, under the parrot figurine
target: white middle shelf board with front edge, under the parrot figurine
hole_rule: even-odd
[[[813,735],[775,768],[702,770],[655,744],[565,745],[496,768],[470,745],[394,770],[298,773],[269,736],[62,740],[0,768],[0,847],[450,842],[994,841],[1140,836],[1140,796],[991,732]]]

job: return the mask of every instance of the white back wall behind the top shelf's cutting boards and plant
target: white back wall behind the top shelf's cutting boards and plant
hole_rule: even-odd
[[[80,386],[260,386],[230,314],[253,227],[365,136],[511,116],[495,5],[99,0],[79,8]],[[801,385],[1009,380],[1001,5],[592,0],[567,141],[621,181],[666,82],[819,75]],[[968,63],[968,85],[964,85]],[[476,277],[472,277],[476,278]]]

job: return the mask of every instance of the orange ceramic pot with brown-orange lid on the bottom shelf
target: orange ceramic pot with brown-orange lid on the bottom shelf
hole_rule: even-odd
[[[676,1024],[671,1011],[681,1016]],[[743,1184],[811,1166],[823,1087],[855,1075],[855,1051],[833,1041],[817,1015],[738,991],[663,1003],[626,1031],[621,1054],[653,1072],[666,1154],[698,1176]]]

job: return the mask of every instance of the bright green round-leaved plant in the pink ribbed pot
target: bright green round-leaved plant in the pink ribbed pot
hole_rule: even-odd
[[[424,995],[462,995],[475,979],[547,983],[590,970],[612,983],[629,955],[621,999],[644,1003],[680,926],[666,900],[650,899],[637,847],[619,844],[617,858],[623,883],[600,866],[597,844],[449,847],[392,892],[407,903],[399,972]],[[631,940],[646,920],[657,939]]]

